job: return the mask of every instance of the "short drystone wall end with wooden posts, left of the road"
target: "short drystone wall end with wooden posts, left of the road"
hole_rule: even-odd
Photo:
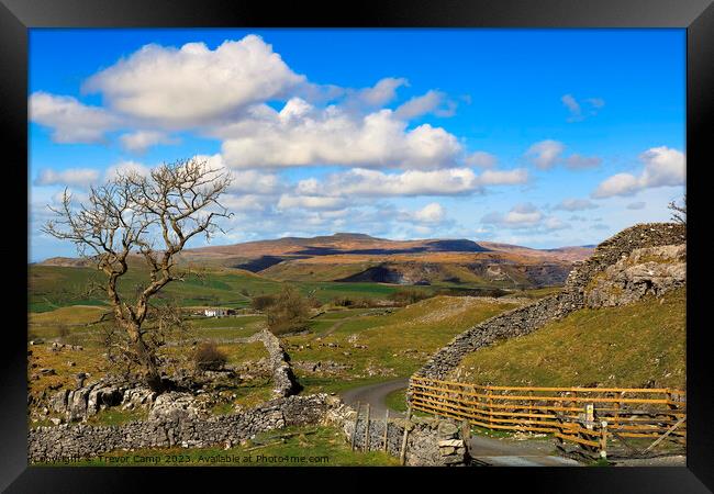
[[[341,404],[327,411],[325,422],[337,426],[347,442],[358,451],[365,448],[365,413],[355,424],[357,412],[349,405]],[[355,431],[355,426],[357,430]],[[400,457],[404,429],[408,429],[404,462],[413,467],[465,465],[469,463],[466,445],[460,437],[460,428],[451,420],[412,417],[390,418],[387,427],[387,452]],[[384,417],[372,416],[369,422],[368,441],[370,451],[384,449]]]

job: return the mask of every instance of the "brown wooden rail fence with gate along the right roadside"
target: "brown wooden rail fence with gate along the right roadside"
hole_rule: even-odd
[[[414,409],[490,429],[553,434],[603,457],[609,441],[635,450],[626,440],[655,439],[651,447],[687,440],[685,393],[673,389],[484,386],[413,377],[408,396]]]

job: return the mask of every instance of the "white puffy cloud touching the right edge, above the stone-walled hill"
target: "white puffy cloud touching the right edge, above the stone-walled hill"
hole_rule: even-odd
[[[644,165],[639,176],[613,175],[598,186],[592,197],[596,199],[626,197],[644,189],[684,184],[687,167],[683,153],[667,146],[652,147],[640,154],[639,160]]]

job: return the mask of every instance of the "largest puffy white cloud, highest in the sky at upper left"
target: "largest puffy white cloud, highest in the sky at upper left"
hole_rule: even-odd
[[[259,36],[180,48],[146,45],[96,74],[85,90],[118,111],[168,127],[194,127],[282,96],[305,81]]]

